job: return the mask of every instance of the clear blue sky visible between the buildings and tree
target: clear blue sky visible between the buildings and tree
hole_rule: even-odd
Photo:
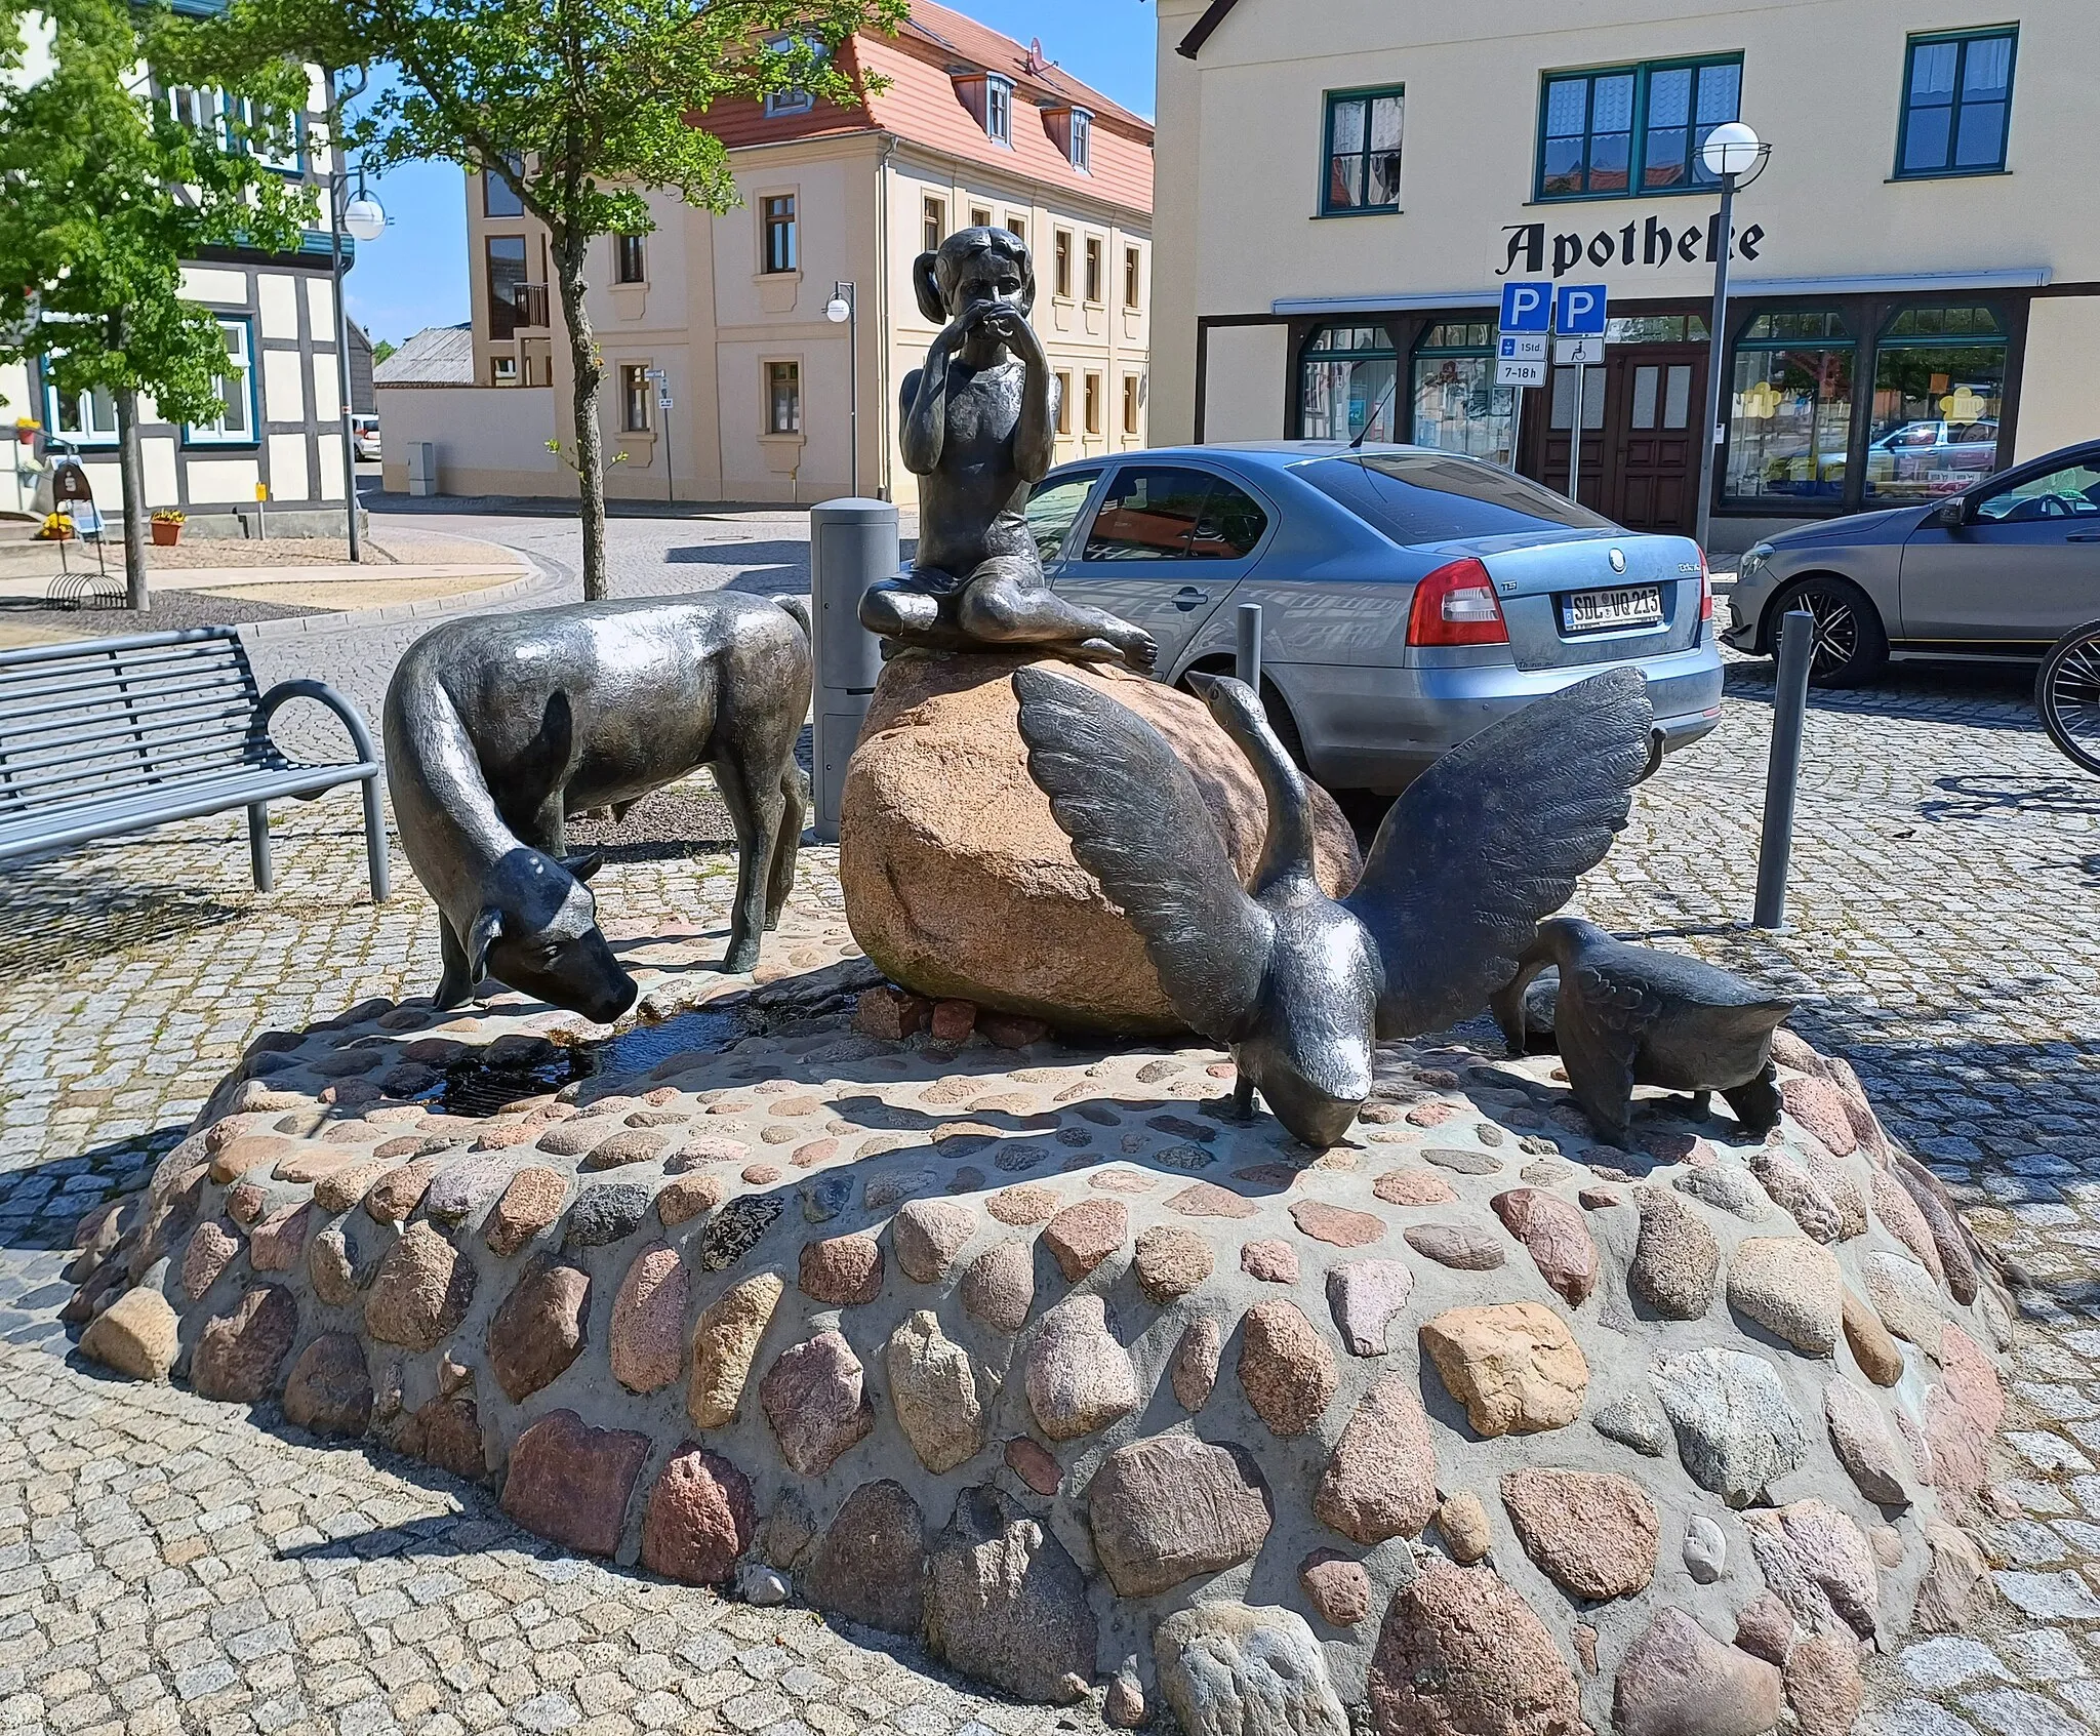
[[[1153,111],[1153,34],[1144,0],[947,0],[1140,115]],[[388,229],[357,248],[344,281],[351,317],[374,342],[466,319],[466,191],[454,164],[412,164],[370,181]]]

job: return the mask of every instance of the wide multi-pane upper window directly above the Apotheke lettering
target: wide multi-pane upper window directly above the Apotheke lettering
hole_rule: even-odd
[[[1539,97],[1541,199],[1714,187],[1707,134],[1739,118],[1743,57],[1548,73]]]

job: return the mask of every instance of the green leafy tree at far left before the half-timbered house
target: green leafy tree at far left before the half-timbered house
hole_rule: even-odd
[[[218,321],[183,300],[183,260],[294,250],[315,210],[262,162],[290,145],[304,69],[216,80],[225,118],[195,128],[143,71],[183,57],[193,82],[187,50],[166,0],[0,0],[0,359],[116,401],[132,609],[149,607],[139,399],[214,422],[231,374]]]

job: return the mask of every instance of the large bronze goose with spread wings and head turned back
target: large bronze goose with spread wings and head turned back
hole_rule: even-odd
[[[1646,684],[1634,670],[1592,676],[1445,754],[1334,901],[1312,873],[1304,772],[1260,699],[1228,676],[1191,680],[1268,800],[1252,886],[1166,737],[1044,668],[1012,676],[1029,777],[1144,938],[1174,1012],[1233,1050],[1241,1115],[1258,1087],[1292,1134],[1325,1148],[1371,1094],[1373,1045],[1480,1012],[1539,919],[1604,859],[1648,766]]]

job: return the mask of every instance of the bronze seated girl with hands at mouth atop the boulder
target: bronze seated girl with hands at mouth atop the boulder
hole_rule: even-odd
[[[1023,508],[1050,468],[1056,382],[1029,325],[1035,271],[1006,229],[960,229],[911,267],[941,325],[903,384],[899,445],[920,477],[911,571],[869,586],[861,626],[939,651],[1025,649],[1151,670],[1153,636],[1058,596]]]

